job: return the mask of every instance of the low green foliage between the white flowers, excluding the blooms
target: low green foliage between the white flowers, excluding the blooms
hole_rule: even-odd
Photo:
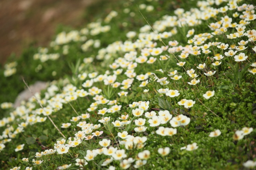
[[[124,42],[127,40],[126,33],[128,31],[139,32],[142,26],[147,23],[140,14],[137,5],[145,3],[145,5],[154,6],[154,11],[146,12],[145,10],[140,10],[148,21],[148,23],[153,24],[157,20],[160,20],[164,15],[174,15],[174,10],[177,8],[184,8],[185,11],[190,8],[195,8],[197,6],[198,0],[194,1],[126,1],[121,0],[116,3],[108,3],[107,1],[102,1],[102,3],[95,3],[84,13],[84,17],[88,21],[96,21],[99,16],[104,18],[112,9],[118,12],[118,15],[112,18],[110,23],[103,23],[103,25],[111,26],[111,30],[108,33],[100,33],[94,37],[90,34],[87,35],[87,40],[99,39],[101,41],[101,48],[107,48],[109,44],[118,41]],[[252,3],[255,5],[254,1],[244,1],[239,3]],[[221,4],[225,6],[226,2]],[[220,6],[213,5],[214,8],[219,8]],[[124,8],[129,8],[129,13],[124,13]],[[135,16],[131,16],[131,12],[134,12]],[[232,16],[233,11],[227,11],[228,16]],[[177,40],[179,45],[187,45],[187,40],[190,38],[186,37],[187,31],[194,28],[195,34],[201,34],[204,32],[212,32],[209,29],[209,24],[216,22],[216,20],[221,20],[226,14],[218,14],[217,17],[211,18],[201,25],[191,27],[184,25],[182,27],[177,27],[178,34],[174,34],[169,39],[163,39],[163,42],[167,45],[169,41]],[[93,16],[93,17],[92,17]],[[239,23],[240,19],[233,18],[233,22]],[[127,23],[127,26],[124,26]],[[250,26],[254,28],[255,21],[251,21]],[[62,31],[72,31],[73,28],[59,26],[56,33]],[[172,28],[168,27],[166,31],[171,31]],[[229,28],[225,35],[233,33],[235,28]],[[238,39],[228,40],[224,34],[216,35],[215,40],[218,42],[225,42],[228,44],[237,44],[243,37]],[[246,37],[246,36],[245,36]],[[134,37],[131,41],[135,42],[138,35]],[[215,41],[210,39],[209,42]],[[157,42],[157,45],[162,46],[162,42]],[[52,82],[57,88],[63,88],[65,86],[65,81],[60,78],[67,78],[70,84],[72,84],[77,89],[82,89],[82,83],[85,82],[88,77],[84,80],[79,79],[78,75],[82,73],[92,73],[97,71],[99,74],[107,74],[107,69],[109,65],[112,64],[119,57],[123,57],[126,52],[119,51],[118,53],[113,53],[107,59],[94,59],[92,63],[82,62],[84,58],[92,57],[95,58],[98,53],[98,49],[94,47],[88,48],[88,50],[82,51],[81,45],[83,42],[72,41],[68,43],[69,52],[67,54],[63,53],[64,45],[56,45],[54,47],[49,47],[49,53],[58,53],[60,57],[57,60],[47,60],[46,62],[41,62],[40,60],[34,60],[33,55],[38,53],[38,49],[33,45],[28,49],[25,49],[23,54],[17,59],[17,73],[11,77],[4,77],[4,68],[0,68],[0,79],[1,79],[1,89],[0,93],[2,98],[0,103],[3,102],[14,102],[17,94],[25,88],[22,82],[22,77],[25,78],[26,82],[33,84],[37,80],[42,81],[52,81],[58,80],[58,82]],[[253,48],[253,42],[248,42],[248,49]],[[1,151],[0,154],[0,168],[10,169],[16,166],[20,166],[21,170],[30,166],[33,169],[44,169],[52,170],[57,169],[59,166],[64,164],[72,164],[69,169],[78,169],[79,167],[75,165],[76,159],[84,159],[87,155],[87,150],[95,150],[102,148],[99,145],[99,141],[103,139],[111,140],[111,145],[113,147],[119,147],[119,149],[125,149],[127,154],[127,159],[132,157],[136,158],[137,154],[143,150],[149,150],[151,155],[150,159],[147,160],[147,164],[139,169],[154,169],[154,170],[169,170],[169,169],[180,169],[180,170],[219,170],[219,169],[245,169],[243,163],[247,160],[255,161],[255,136],[256,136],[256,79],[255,75],[248,73],[247,70],[250,68],[252,62],[256,60],[256,55],[252,50],[244,51],[246,55],[249,56],[250,62],[242,62],[240,64],[233,64],[233,58],[225,57],[224,62],[219,66],[213,66],[212,61],[214,60],[213,54],[220,53],[224,55],[224,51],[221,51],[215,46],[209,48],[212,53],[201,54],[200,56],[189,56],[186,60],[180,59],[180,61],[186,61],[184,68],[177,65],[176,57],[180,55],[180,52],[175,52],[173,55],[164,51],[163,54],[169,55],[168,60],[160,60],[154,64],[138,63],[138,67],[134,68],[134,72],[137,75],[146,74],[148,72],[154,73],[157,77],[168,77],[167,74],[171,71],[177,70],[178,74],[182,76],[180,80],[172,80],[168,77],[169,84],[162,86],[159,82],[154,81],[154,75],[149,75],[149,83],[145,87],[140,87],[140,81],[134,80],[134,83],[130,88],[124,89],[128,92],[127,96],[119,96],[118,93],[122,91],[120,88],[113,88],[112,85],[104,85],[104,82],[95,81],[93,86],[102,89],[99,95],[102,95],[108,100],[116,100],[116,105],[121,105],[121,111],[116,111],[115,113],[105,113],[105,115],[97,114],[98,110],[103,108],[110,108],[110,105],[98,105],[98,108],[93,111],[88,111],[95,96],[87,95],[84,97],[78,97],[76,101],[70,101],[70,103],[64,103],[63,108],[59,111],[53,112],[49,117],[55,123],[55,125],[61,130],[61,132],[66,136],[66,144],[72,140],[74,134],[82,130],[77,124],[81,121],[86,121],[87,123],[99,124],[98,120],[103,117],[111,117],[110,121],[107,123],[101,123],[99,131],[103,131],[101,136],[95,136],[90,140],[83,140],[81,144],[77,147],[70,147],[69,153],[66,154],[52,154],[47,156],[42,156],[40,160],[43,160],[41,164],[33,165],[32,160],[39,158],[35,157],[35,153],[43,152],[44,150],[49,150],[54,148],[56,141],[63,139],[63,136],[58,132],[55,126],[47,118],[45,122],[36,123],[33,125],[27,125],[24,131],[17,133],[17,135],[12,138],[11,142],[6,143],[6,148]],[[140,56],[140,49],[137,49],[137,57]],[[11,62],[13,60],[9,60]],[[207,67],[203,70],[196,70],[199,75],[200,83],[197,85],[188,85],[190,78],[186,74],[186,70],[195,68],[199,63],[207,63]],[[246,63],[246,64],[245,64]],[[230,67],[230,68],[229,68]],[[39,69],[41,68],[41,69]],[[159,69],[162,69],[160,71]],[[53,74],[55,71],[55,74]],[[216,74],[211,77],[204,75],[207,71],[216,71]],[[113,70],[109,70],[113,74]],[[117,76],[116,82],[122,82],[126,75],[124,71],[122,74]],[[197,79],[198,79],[197,78]],[[125,78],[126,79],[126,78]],[[134,77],[136,79],[136,77]],[[159,94],[157,92],[160,88],[177,89],[180,93],[179,96],[169,97],[165,94]],[[89,91],[89,88],[83,88],[85,91]],[[149,91],[144,93],[143,90],[148,89]],[[206,91],[215,91],[215,95],[210,99],[205,99],[203,94]],[[48,94],[47,94],[48,93]],[[55,93],[61,93],[60,89]],[[65,92],[67,93],[67,92]],[[70,93],[72,94],[72,93]],[[49,91],[45,90],[41,92],[41,98],[49,95]],[[51,96],[52,97],[52,96]],[[178,102],[181,99],[191,99],[195,101],[195,105],[191,108],[185,108],[179,105]],[[66,100],[66,99],[65,99]],[[136,132],[134,130],[135,120],[138,117],[133,116],[133,108],[129,107],[132,102],[139,101],[149,101],[149,108],[145,112],[167,110],[172,114],[172,117],[183,114],[190,119],[189,125],[176,127],[177,134],[173,136],[160,136],[156,133],[156,130],[160,127],[171,127],[169,121],[166,124],[160,124],[157,127],[151,127],[148,119],[145,122],[145,127],[147,127],[145,132]],[[35,108],[39,108],[36,102]],[[202,104],[203,103],[203,104]],[[45,104],[46,107],[48,104]],[[72,108],[72,107],[73,108]],[[27,115],[31,115],[32,110],[28,110]],[[76,110],[76,111],[74,111]],[[9,113],[15,113],[14,109],[8,109],[1,111],[2,117],[9,117]],[[76,112],[81,115],[87,113],[90,114],[89,119],[81,119],[78,122],[70,121],[72,117],[78,116]],[[119,117],[122,115],[128,115],[128,121],[131,121],[128,125],[121,127],[114,127],[112,122],[120,120]],[[217,115],[217,116],[216,116]],[[37,115],[43,116],[43,115]],[[14,119],[12,124],[13,129],[16,129],[20,122],[26,122],[26,120],[19,116],[18,119]],[[44,116],[43,116],[44,117]],[[143,117],[145,118],[145,116]],[[68,128],[61,128],[63,123],[70,122],[71,126]],[[236,130],[241,130],[243,127],[253,127],[254,130],[244,136],[244,139],[233,140],[233,135]],[[0,132],[2,133],[6,127],[0,127]],[[212,131],[220,129],[221,136],[209,137],[209,133]],[[94,130],[93,132],[95,132]],[[132,150],[127,150],[124,145],[120,145],[119,141],[122,139],[118,136],[119,132],[127,131],[129,135],[138,137],[147,137],[145,146],[134,148]],[[87,136],[87,135],[86,135]],[[71,139],[68,139],[71,137]],[[196,142],[198,145],[197,150],[188,151],[181,150],[180,148],[187,146]],[[19,144],[25,144],[23,150],[15,152],[15,148]],[[167,156],[160,155],[157,150],[158,148],[170,147],[171,152]],[[28,161],[22,161],[23,158],[28,158]],[[84,169],[91,170],[106,170],[107,167],[101,166],[105,159],[110,158],[104,154],[98,155],[93,161],[88,161],[88,164],[84,166]],[[111,165],[119,168],[120,161],[114,160]],[[134,163],[133,163],[134,165]],[[135,167],[130,167],[130,169],[135,169]]]

